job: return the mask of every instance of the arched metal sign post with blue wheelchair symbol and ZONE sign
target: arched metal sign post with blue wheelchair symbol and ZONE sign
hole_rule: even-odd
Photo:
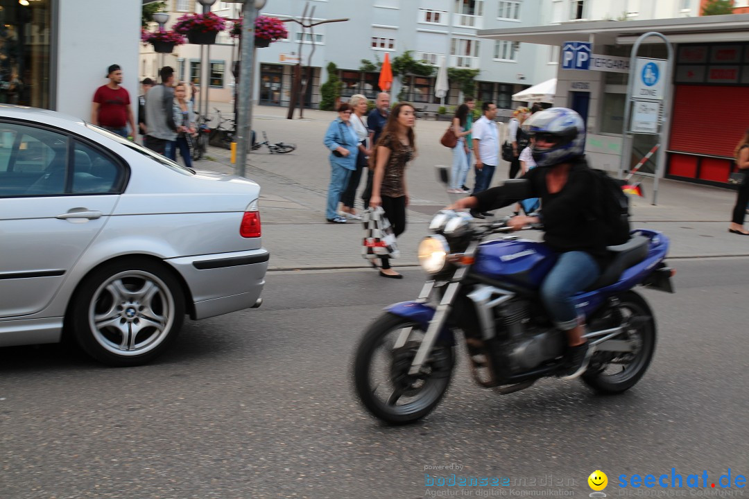
[[[638,58],[637,49],[647,37],[660,37],[668,50],[667,60]],[[619,178],[622,178],[631,150],[631,133],[658,135],[663,144],[664,135],[668,135],[667,109],[670,103],[671,72],[673,68],[673,47],[663,34],[649,31],[643,34],[632,46],[631,61],[634,61],[634,72],[630,71],[627,82],[627,102],[624,108],[624,125],[622,127],[622,158],[619,162]],[[663,120],[661,115],[663,107]],[[634,114],[634,115],[633,115]],[[631,123],[630,123],[631,118]],[[655,180],[653,184],[652,204],[658,199],[658,179],[666,159],[665,147],[659,147],[655,156]]]

